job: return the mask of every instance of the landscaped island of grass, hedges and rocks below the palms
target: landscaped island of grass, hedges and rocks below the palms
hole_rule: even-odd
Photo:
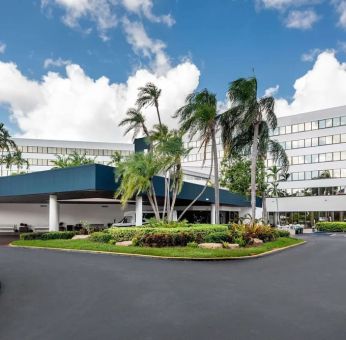
[[[259,255],[303,242],[289,237],[287,231],[269,226],[189,225],[186,222],[156,221],[145,227],[109,228],[91,232],[88,238],[80,237],[75,232],[27,233],[12,245],[212,259]]]

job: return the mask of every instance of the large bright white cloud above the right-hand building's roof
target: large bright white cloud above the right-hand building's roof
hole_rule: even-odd
[[[305,75],[294,83],[292,101],[276,101],[278,116],[346,105],[346,63],[338,61],[335,52],[322,52]]]

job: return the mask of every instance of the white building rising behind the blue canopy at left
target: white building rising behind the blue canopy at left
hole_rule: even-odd
[[[75,142],[27,138],[13,138],[13,140],[23,153],[23,158],[29,163],[29,168],[21,169],[21,171],[28,172],[51,169],[57,155],[65,156],[77,152],[95,159],[96,163],[107,165],[115,151],[124,156],[134,152],[134,146],[131,143]],[[8,176],[16,172],[18,169],[15,166],[11,169],[7,168],[5,164],[0,166],[1,176]]]

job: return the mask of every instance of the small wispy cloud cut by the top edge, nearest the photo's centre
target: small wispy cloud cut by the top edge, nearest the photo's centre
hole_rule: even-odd
[[[148,20],[156,23],[164,23],[168,26],[172,26],[175,20],[170,14],[156,16],[153,14],[153,2],[152,0],[122,0],[124,7],[137,14],[143,14]]]

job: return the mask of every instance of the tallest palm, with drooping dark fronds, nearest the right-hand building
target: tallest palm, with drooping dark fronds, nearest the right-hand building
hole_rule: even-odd
[[[228,89],[228,96],[232,107],[224,114],[223,127],[230,135],[223,136],[223,141],[231,147],[234,135],[245,140],[249,131],[252,133],[251,144],[251,222],[255,223],[256,217],[256,164],[259,157],[260,133],[264,130],[275,129],[277,126],[274,113],[274,98],[257,97],[257,79],[240,78],[233,81]],[[262,127],[262,131],[261,131]],[[247,136],[245,136],[246,134]],[[269,145],[263,142],[264,145]]]

